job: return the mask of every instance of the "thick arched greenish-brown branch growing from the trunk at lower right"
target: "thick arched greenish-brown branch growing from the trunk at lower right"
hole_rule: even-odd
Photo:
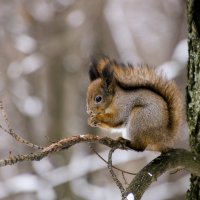
[[[161,154],[146,165],[131,181],[122,199],[132,193],[135,200],[140,200],[146,189],[163,173],[183,168],[193,174],[200,175],[200,158],[185,149],[172,149]]]

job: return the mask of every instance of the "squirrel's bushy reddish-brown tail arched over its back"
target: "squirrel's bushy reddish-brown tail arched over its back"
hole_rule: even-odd
[[[149,66],[122,67],[114,65],[113,67],[115,79],[120,87],[149,89],[164,99],[169,113],[169,134],[176,137],[183,119],[183,97],[175,82],[166,80],[163,75],[158,75],[155,69]]]

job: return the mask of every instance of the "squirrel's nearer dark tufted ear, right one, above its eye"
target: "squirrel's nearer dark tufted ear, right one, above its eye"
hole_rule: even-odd
[[[109,92],[113,91],[114,74],[113,74],[113,68],[110,64],[107,64],[104,67],[101,78],[105,83],[106,89],[108,89]]]

